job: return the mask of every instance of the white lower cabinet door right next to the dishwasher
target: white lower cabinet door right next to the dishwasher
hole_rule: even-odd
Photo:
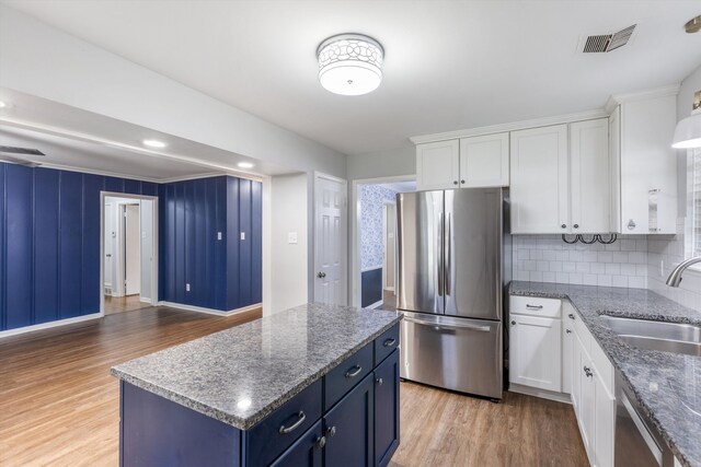
[[[601,378],[594,378],[594,452],[597,467],[613,467],[616,430],[616,398],[611,396]]]

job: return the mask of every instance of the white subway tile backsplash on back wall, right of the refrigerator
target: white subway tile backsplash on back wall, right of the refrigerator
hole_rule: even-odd
[[[646,236],[619,235],[610,245],[598,242],[570,245],[562,241],[561,235],[514,235],[513,246],[515,280],[634,289],[647,287]]]

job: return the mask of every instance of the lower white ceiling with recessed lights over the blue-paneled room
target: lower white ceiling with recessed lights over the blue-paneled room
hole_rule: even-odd
[[[3,87],[0,100],[12,104],[0,108],[0,145],[38,149],[45,157],[21,159],[47,166],[154,182],[211,174],[260,177],[296,172]],[[145,139],[168,145],[152,150],[143,147]],[[252,163],[253,167],[240,168],[240,162]]]

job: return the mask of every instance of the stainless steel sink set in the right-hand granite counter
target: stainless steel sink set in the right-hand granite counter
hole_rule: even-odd
[[[607,315],[601,320],[621,340],[639,349],[701,357],[700,326]]]

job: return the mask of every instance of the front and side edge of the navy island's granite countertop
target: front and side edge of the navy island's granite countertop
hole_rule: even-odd
[[[350,357],[353,353],[357,352],[363,347],[365,347],[368,343],[372,342],[375,339],[377,339],[379,336],[381,336],[384,331],[389,330],[394,325],[397,325],[399,322],[401,322],[403,319],[403,317],[404,317],[404,314],[399,312],[397,317],[393,318],[389,324],[383,325],[382,327],[379,328],[379,330],[377,330],[374,334],[371,334],[368,338],[363,339],[359,343],[357,343],[356,346],[354,346],[353,348],[350,348],[349,350],[347,350],[346,352],[341,354],[338,358],[336,358],[333,361],[331,361],[329,364],[326,364],[325,366],[323,366],[319,371],[317,371],[317,372],[312,373],[311,375],[307,376],[306,378],[301,380],[291,389],[289,389],[287,393],[285,393],[284,395],[281,395],[277,399],[275,399],[273,402],[268,404],[267,406],[265,406],[264,408],[262,408],[257,412],[252,413],[250,417],[248,417],[245,419],[242,419],[240,417],[235,417],[235,416],[232,416],[230,413],[227,413],[221,409],[218,409],[216,407],[211,407],[209,405],[203,404],[199,400],[196,400],[196,399],[183,396],[181,394],[174,393],[172,390],[165,389],[165,388],[160,387],[160,386],[158,386],[158,385],[156,385],[156,384],[153,384],[153,383],[151,383],[149,381],[146,381],[143,378],[139,378],[139,377],[135,377],[133,375],[129,375],[129,374],[120,371],[117,367],[118,365],[112,366],[110,369],[110,374],[112,374],[113,376],[119,378],[120,381],[125,381],[126,383],[129,383],[129,384],[131,384],[131,385],[134,385],[134,386],[136,386],[136,387],[138,387],[140,389],[143,389],[143,390],[147,390],[147,392],[149,392],[151,394],[154,394],[157,396],[163,397],[164,399],[171,400],[171,401],[173,401],[175,404],[179,404],[179,405],[181,405],[183,407],[192,409],[192,410],[194,410],[196,412],[199,412],[199,413],[202,413],[204,416],[214,418],[215,420],[218,420],[218,421],[220,421],[222,423],[226,423],[226,424],[228,424],[230,427],[233,427],[235,429],[245,431],[245,430],[250,430],[251,428],[253,428],[254,425],[260,423],[268,415],[271,415],[273,411],[275,411],[275,409],[277,409],[278,407],[283,406],[285,402],[287,402],[292,397],[295,397],[296,395],[301,393],[303,389],[309,387],[311,384],[313,384],[317,381],[319,381],[319,378],[321,378],[322,376],[327,374],[331,370],[336,367],[341,362],[343,362],[345,359]]]

